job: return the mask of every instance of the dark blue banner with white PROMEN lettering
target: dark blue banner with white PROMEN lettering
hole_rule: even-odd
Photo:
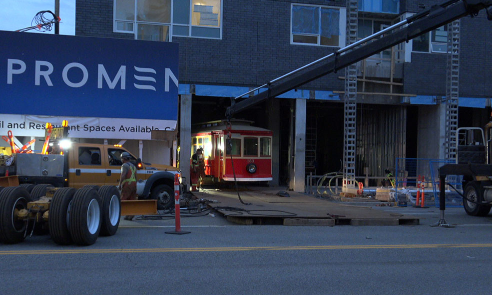
[[[178,43],[0,31],[3,114],[177,120]]]

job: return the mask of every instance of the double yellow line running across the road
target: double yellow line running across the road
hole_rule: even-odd
[[[415,249],[415,248],[492,248],[487,244],[401,244],[401,245],[322,245],[322,246],[258,246],[258,247],[203,247],[203,248],[137,248],[137,249],[66,249],[66,250],[11,250],[0,255],[26,254],[89,254],[89,253],[161,253],[161,252],[220,252],[259,250],[334,250],[334,249]]]

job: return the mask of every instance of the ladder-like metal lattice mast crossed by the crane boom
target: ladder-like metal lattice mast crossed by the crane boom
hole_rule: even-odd
[[[358,0],[347,0],[347,45],[357,41]],[[343,142],[343,187],[347,192],[355,187],[355,151],[357,127],[357,63],[345,68]]]

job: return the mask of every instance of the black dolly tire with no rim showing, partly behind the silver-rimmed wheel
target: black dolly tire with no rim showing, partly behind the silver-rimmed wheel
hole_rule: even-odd
[[[57,189],[49,206],[49,234],[57,244],[68,245],[73,242],[68,224],[70,223],[71,200],[77,190],[73,187]]]

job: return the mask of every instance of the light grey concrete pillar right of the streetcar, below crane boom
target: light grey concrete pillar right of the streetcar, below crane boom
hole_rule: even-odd
[[[296,98],[296,136],[294,154],[294,191],[304,192],[306,161],[306,99]]]

